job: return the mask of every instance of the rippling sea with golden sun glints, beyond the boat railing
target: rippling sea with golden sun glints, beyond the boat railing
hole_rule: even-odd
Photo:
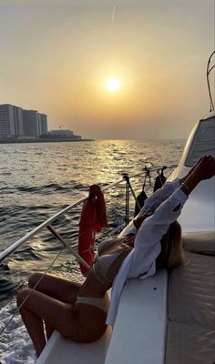
[[[53,216],[62,208],[87,197],[88,187],[107,187],[122,172],[131,177],[135,192],[142,189],[144,167],[150,168],[145,191],[149,195],[157,169],[166,166],[165,176],[179,161],[185,140],[98,140],[82,143],[0,145],[0,251]],[[149,183],[151,181],[151,184]],[[116,236],[125,226],[125,182],[106,190],[108,227],[97,235]],[[130,196],[129,217],[135,202]],[[57,231],[77,247],[81,206],[57,219]],[[15,312],[17,290],[26,286],[27,277],[44,272],[61,251],[49,272],[81,281],[76,260],[62,248],[46,228],[0,263],[0,331]],[[34,349],[19,315],[0,336],[1,364],[33,364]]]

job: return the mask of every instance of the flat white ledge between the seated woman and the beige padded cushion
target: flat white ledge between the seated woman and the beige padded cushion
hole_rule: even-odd
[[[105,364],[163,364],[167,328],[167,271],[145,280],[129,280]]]

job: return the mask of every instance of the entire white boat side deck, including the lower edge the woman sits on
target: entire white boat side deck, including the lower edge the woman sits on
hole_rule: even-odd
[[[55,331],[36,364],[66,364],[68,359],[72,364],[162,364],[167,280],[165,269],[145,280],[129,280],[120,299],[112,335],[108,327],[101,339],[86,344],[65,339]]]

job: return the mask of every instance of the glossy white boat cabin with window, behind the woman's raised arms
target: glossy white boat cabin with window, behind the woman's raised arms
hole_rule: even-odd
[[[212,112],[207,117],[209,118],[200,120],[193,127],[179,166],[169,177],[169,181],[185,176],[201,156],[215,155],[215,113]],[[183,232],[214,231],[215,177],[200,182],[191,192],[179,217],[179,223]]]

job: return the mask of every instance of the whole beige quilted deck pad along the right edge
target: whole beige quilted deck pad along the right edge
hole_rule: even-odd
[[[212,364],[215,360],[215,258],[208,255],[214,240],[195,246],[192,236],[190,242],[187,248],[196,252],[187,252],[186,265],[169,274],[166,364]]]

